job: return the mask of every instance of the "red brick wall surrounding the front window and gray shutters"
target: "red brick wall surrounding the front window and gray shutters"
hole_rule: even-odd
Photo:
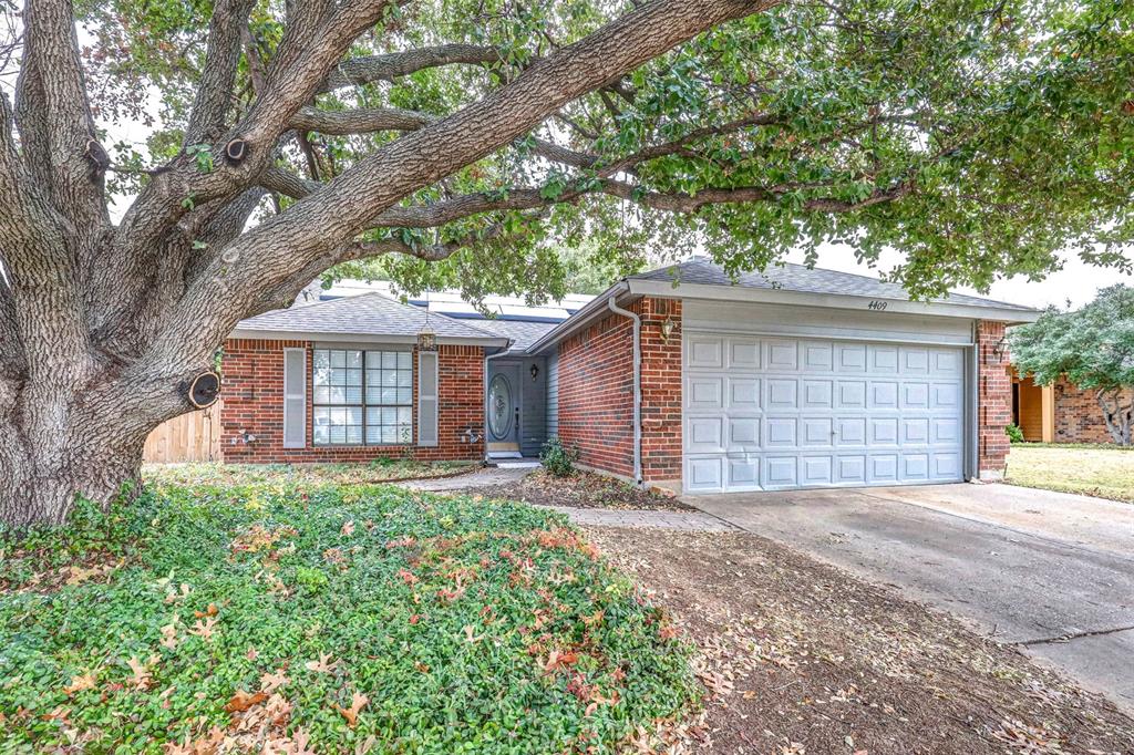
[[[284,448],[284,349],[307,349],[307,447]],[[225,343],[221,371],[221,453],[230,464],[293,464],[370,461],[412,456],[424,460],[480,459],[483,438],[463,441],[472,427],[484,426],[484,350],[476,346],[438,347],[438,446],[417,448],[417,354],[414,351],[414,446],[312,444],[312,343],[230,339]],[[243,442],[242,432],[255,435]],[[236,442],[234,442],[236,441]]]

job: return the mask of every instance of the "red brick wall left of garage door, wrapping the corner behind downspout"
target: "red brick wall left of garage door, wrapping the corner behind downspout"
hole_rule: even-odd
[[[682,303],[642,298],[626,307],[642,319],[642,474],[682,477]],[[669,340],[661,323],[674,321]],[[559,343],[559,436],[579,461],[634,474],[634,336],[613,313]]]

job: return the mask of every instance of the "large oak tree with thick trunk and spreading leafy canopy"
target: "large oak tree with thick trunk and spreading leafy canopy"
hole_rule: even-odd
[[[110,500],[232,326],[337,264],[540,295],[583,240],[734,269],[846,240],[930,295],[1067,248],[1123,264],[1134,227],[1123,0],[0,9],[14,526]],[[98,127],[154,114],[146,150]]]

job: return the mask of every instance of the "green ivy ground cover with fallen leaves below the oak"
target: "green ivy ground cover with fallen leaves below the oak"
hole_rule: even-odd
[[[557,514],[390,486],[151,486],[0,540],[0,752],[612,752],[695,698]]]

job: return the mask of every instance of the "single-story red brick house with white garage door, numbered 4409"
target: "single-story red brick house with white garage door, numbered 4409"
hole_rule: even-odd
[[[480,459],[558,436],[584,467],[686,492],[997,478],[1005,330],[1039,312],[694,257],[542,322],[464,315],[365,294],[242,322],[225,460]]]

